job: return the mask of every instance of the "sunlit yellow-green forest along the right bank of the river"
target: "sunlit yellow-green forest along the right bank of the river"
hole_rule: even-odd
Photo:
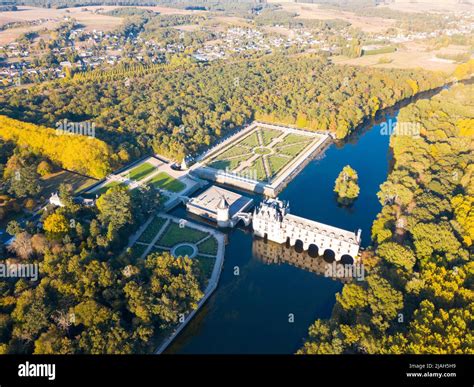
[[[302,354],[472,354],[474,328],[474,86],[459,84],[400,110],[382,210],[362,256]]]

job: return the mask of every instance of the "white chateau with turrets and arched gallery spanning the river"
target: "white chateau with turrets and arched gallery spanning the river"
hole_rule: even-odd
[[[290,214],[289,204],[278,199],[263,201],[253,212],[254,234],[277,243],[287,243],[309,253],[333,256],[336,261],[356,261],[361,242],[357,233]]]

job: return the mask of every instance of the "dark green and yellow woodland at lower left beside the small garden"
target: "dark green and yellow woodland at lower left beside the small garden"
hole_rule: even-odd
[[[7,166],[34,165],[28,151],[1,145]],[[25,186],[35,188],[26,195],[37,193],[30,176]],[[18,189],[9,192],[18,196]],[[59,197],[63,207],[49,205],[39,223],[8,223],[15,239],[0,247],[1,267],[39,265],[40,276],[0,282],[0,353],[152,352],[202,298],[194,261],[168,253],[137,259],[126,248],[128,236],[159,210],[158,191],[117,186],[86,207],[63,184]]]

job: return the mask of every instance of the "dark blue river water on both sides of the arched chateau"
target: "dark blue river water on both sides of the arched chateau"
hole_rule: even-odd
[[[397,114],[391,112],[382,120],[390,119],[393,125]],[[290,201],[291,212],[347,230],[361,228],[362,245],[367,246],[381,208],[376,193],[391,161],[389,136],[380,129],[381,120],[371,123],[357,137],[331,145],[322,158],[311,161],[280,194]],[[358,172],[361,188],[350,208],[340,207],[333,192],[347,164]],[[177,213],[185,216],[182,209]],[[229,233],[217,291],[168,353],[294,353],[308,327],[317,318],[330,317],[342,283],[290,264],[267,264],[252,254],[253,243],[245,230]],[[239,275],[234,275],[236,268]]]

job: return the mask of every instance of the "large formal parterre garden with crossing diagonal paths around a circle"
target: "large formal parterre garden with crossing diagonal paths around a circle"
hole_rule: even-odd
[[[302,134],[299,134],[302,133]],[[244,137],[205,161],[216,170],[240,173],[251,180],[272,181],[318,136],[256,124]]]

